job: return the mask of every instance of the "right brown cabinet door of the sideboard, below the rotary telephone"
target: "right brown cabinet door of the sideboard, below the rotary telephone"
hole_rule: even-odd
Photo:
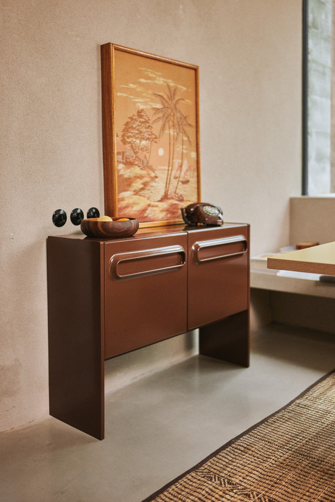
[[[248,225],[188,233],[187,329],[248,308]]]

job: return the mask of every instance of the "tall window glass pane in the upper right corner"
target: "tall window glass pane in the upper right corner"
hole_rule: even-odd
[[[335,0],[308,0],[307,191],[335,192],[335,71],[332,65]],[[306,29],[306,27],[305,27]],[[305,61],[306,62],[306,61]],[[334,87],[334,89],[333,89]],[[332,98],[333,96],[333,98]]]

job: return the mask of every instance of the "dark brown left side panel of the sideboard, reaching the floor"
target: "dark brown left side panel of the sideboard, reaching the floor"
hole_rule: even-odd
[[[48,237],[50,415],[104,437],[103,242]]]

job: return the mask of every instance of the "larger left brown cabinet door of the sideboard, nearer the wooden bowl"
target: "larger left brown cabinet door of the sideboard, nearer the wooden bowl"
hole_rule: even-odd
[[[104,243],[105,358],[187,330],[187,234]]]

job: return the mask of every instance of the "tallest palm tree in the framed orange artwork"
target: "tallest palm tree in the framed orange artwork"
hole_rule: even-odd
[[[166,175],[165,189],[162,199],[168,198],[169,188],[171,183],[172,167],[174,161],[175,145],[180,134],[180,116],[182,115],[179,109],[179,103],[184,101],[183,98],[176,98],[177,87],[172,87],[167,84],[167,92],[155,96],[160,101],[160,107],[154,107],[154,115],[157,117],[153,120],[153,124],[161,122],[159,138],[167,131],[169,135],[169,160],[168,170]]]

